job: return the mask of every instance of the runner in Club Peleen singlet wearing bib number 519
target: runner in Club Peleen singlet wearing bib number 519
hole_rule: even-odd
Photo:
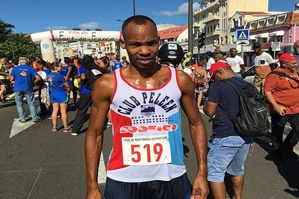
[[[159,37],[147,16],[128,18],[122,27],[131,64],[104,75],[92,89],[85,139],[87,199],[103,199],[99,159],[110,109],[113,148],[107,163],[105,199],[206,199],[207,135],[194,99],[191,78],[156,64]],[[105,88],[105,89],[103,89]],[[183,162],[180,107],[187,115],[197,158],[191,187]]]

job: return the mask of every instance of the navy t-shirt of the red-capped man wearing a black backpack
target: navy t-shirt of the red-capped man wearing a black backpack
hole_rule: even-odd
[[[238,78],[232,78],[240,86],[247,86],[248,83]],[[228,136],[238,136],[234,129],[234,124],[227,118],[219,105],[228,112],[230,118],[236,118],[239,112],[239,96],[228,83],[216,81],[209,88],[208,101],[218,103],[216,115],[213,120],[213,137],[223,138]]]

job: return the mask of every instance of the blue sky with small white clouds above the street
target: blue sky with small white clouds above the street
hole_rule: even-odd
[[[269,10],[291,11],[296,1],[269,0]],[[135,0],[136,14],[147,15],[156,24],[185,25],[188,21],[187,2]],[[199,8],[198,2],[193,0],[194,10]],[[121,30],[122,21],[117,19],[125,20],[131,15],[133,0],[3,0],[0,11],[0,19],[15,26],[14,33],[72,28]]]

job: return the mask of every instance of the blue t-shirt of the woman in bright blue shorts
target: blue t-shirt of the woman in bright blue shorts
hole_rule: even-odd
[[[66,91],[66,88],[63,85],[63,83],[65,83],[66,80],[63,77],[63,75],[52,72],[49,75],[47,75],[47,80],[49,83],[50,92]]]

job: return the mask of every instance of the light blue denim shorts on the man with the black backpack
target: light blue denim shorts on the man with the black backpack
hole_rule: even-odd
[[[214,183],[224,182],[224,175],[244,175],[244,164],[250,146],[251,137],[229,136],[212,138],[208,141],[208,181]]]

